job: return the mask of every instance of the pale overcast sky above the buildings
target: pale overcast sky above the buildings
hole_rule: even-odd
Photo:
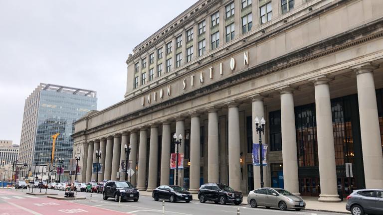
[[[129,53],[197,0],[0,0],[0,139],[19,144],[39,83],[124,99]]]

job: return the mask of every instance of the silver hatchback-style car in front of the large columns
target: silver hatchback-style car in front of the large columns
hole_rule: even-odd
[[[252,208],[264,206],[279,208],[281,211],[295,209],[300,211],[306,207],[305,201],[281,188],[260,188],[249,192],[247,204]]]

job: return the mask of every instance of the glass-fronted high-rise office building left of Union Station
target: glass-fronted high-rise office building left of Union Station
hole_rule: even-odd
[[[51,162],[52,135],[54,160],[64,158],[68,167],[72,158],[74,122],[97,108],[96,92],[53,84],[40,84],[26,98],[22,121],[19,162],[40,165]]]

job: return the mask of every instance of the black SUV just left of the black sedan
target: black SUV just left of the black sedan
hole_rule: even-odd
[[[102,192],[102,198],[107,200],[108,197],[114,198],[114,201],[119,202],[124,200],[138,201],[140,192],[134,188],[130,182],[126,181],[108,181]]]

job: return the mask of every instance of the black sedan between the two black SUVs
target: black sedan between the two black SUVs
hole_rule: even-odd
[[[185,201],[189,203],[192,201],[192,194],[186,191],[183,187],[176,185],[163,185],[153,190],[152,197],[154,201],[160,199],[169,200],[174,203],[177,201]]]

